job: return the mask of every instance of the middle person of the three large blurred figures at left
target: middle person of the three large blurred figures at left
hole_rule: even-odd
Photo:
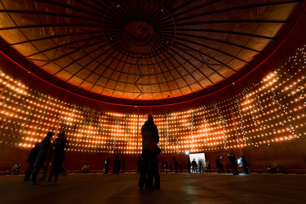
[[[51,138],[52,138],[53,134],[54,134],[54,132],[48,132],[46,137],[40,143],[40,151],[37,155],[37,158],[36,158],[36,161],[35,161],[35,164],[34,164],[34,172],[33,172],[33,175],[32,175],[32,182],[31,182],[30,185],[35,185],[36,184],[36,179],[37,179],[37,175],[39,173],[39,169],[44,168],[47,165],[49,165],[49,163],[47,163],[47,161],[50,161],[49,157],[50,157],[50,153],[51,153]]]

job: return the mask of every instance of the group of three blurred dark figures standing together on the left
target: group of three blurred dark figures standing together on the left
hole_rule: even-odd
[[[65,136],[65,132],[61,132],[52,144],[51,139],[53,135],[54,132],[48,132],[40,144],[35,143],[35,147],[31,151],[31,154],[27,160],[29,163],[29,168],[24,176],[24,181],[31,181],[30,185],[37,184],[36,180],[41,168],[43,168],[43,177],[40,180],[47,179],[47,170],[49,168],[50,162],[51,170],[49,173],[47,185],[50,184],[53,176],[55,176],[54,184],[58,184],[58,176],[63,170],[63,161],[65,158],[64,148],[67,142],[67,138]],[[31,174],[32,178],[30,179]]]

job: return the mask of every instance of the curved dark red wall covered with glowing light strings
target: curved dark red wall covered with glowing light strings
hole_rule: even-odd
[[[305,169],[305,20],[262,65],[221,91],[169,106],[120,106],[64,91],[0,56],[0,171],[26,168],[30,149],[48,131],[65,130],[65,167],[102,170],[115,155],[136,170],[141,153],[138,129],[148,114],[159,127],[159,160],[205,152],[212,169],[216,156],[233,152],[252,169],[280,161],[288,172]],[[82,95],[82,92],[80,92]]]

